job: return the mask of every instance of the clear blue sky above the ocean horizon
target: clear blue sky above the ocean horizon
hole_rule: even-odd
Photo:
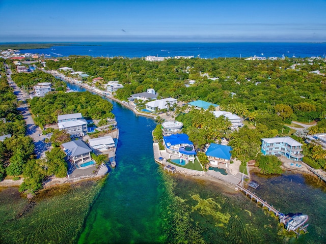
[[[0,42],[326,41],[326,0],[0,0]]]

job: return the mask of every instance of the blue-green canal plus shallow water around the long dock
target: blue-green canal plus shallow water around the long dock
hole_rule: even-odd
[[[80,92],[83,87],[68,83]],[[107,99],[107,98],[105,98]],[[120,130],[117,167],[92,205],[78,243],[325,243],[326,194],[317,179],[286,172],[253,175],[255,192],[285,214],[308,214],[308,233],[289,235],[241,193],[215,182],[171,176],[154,162],[155,121],[112,101]]]

